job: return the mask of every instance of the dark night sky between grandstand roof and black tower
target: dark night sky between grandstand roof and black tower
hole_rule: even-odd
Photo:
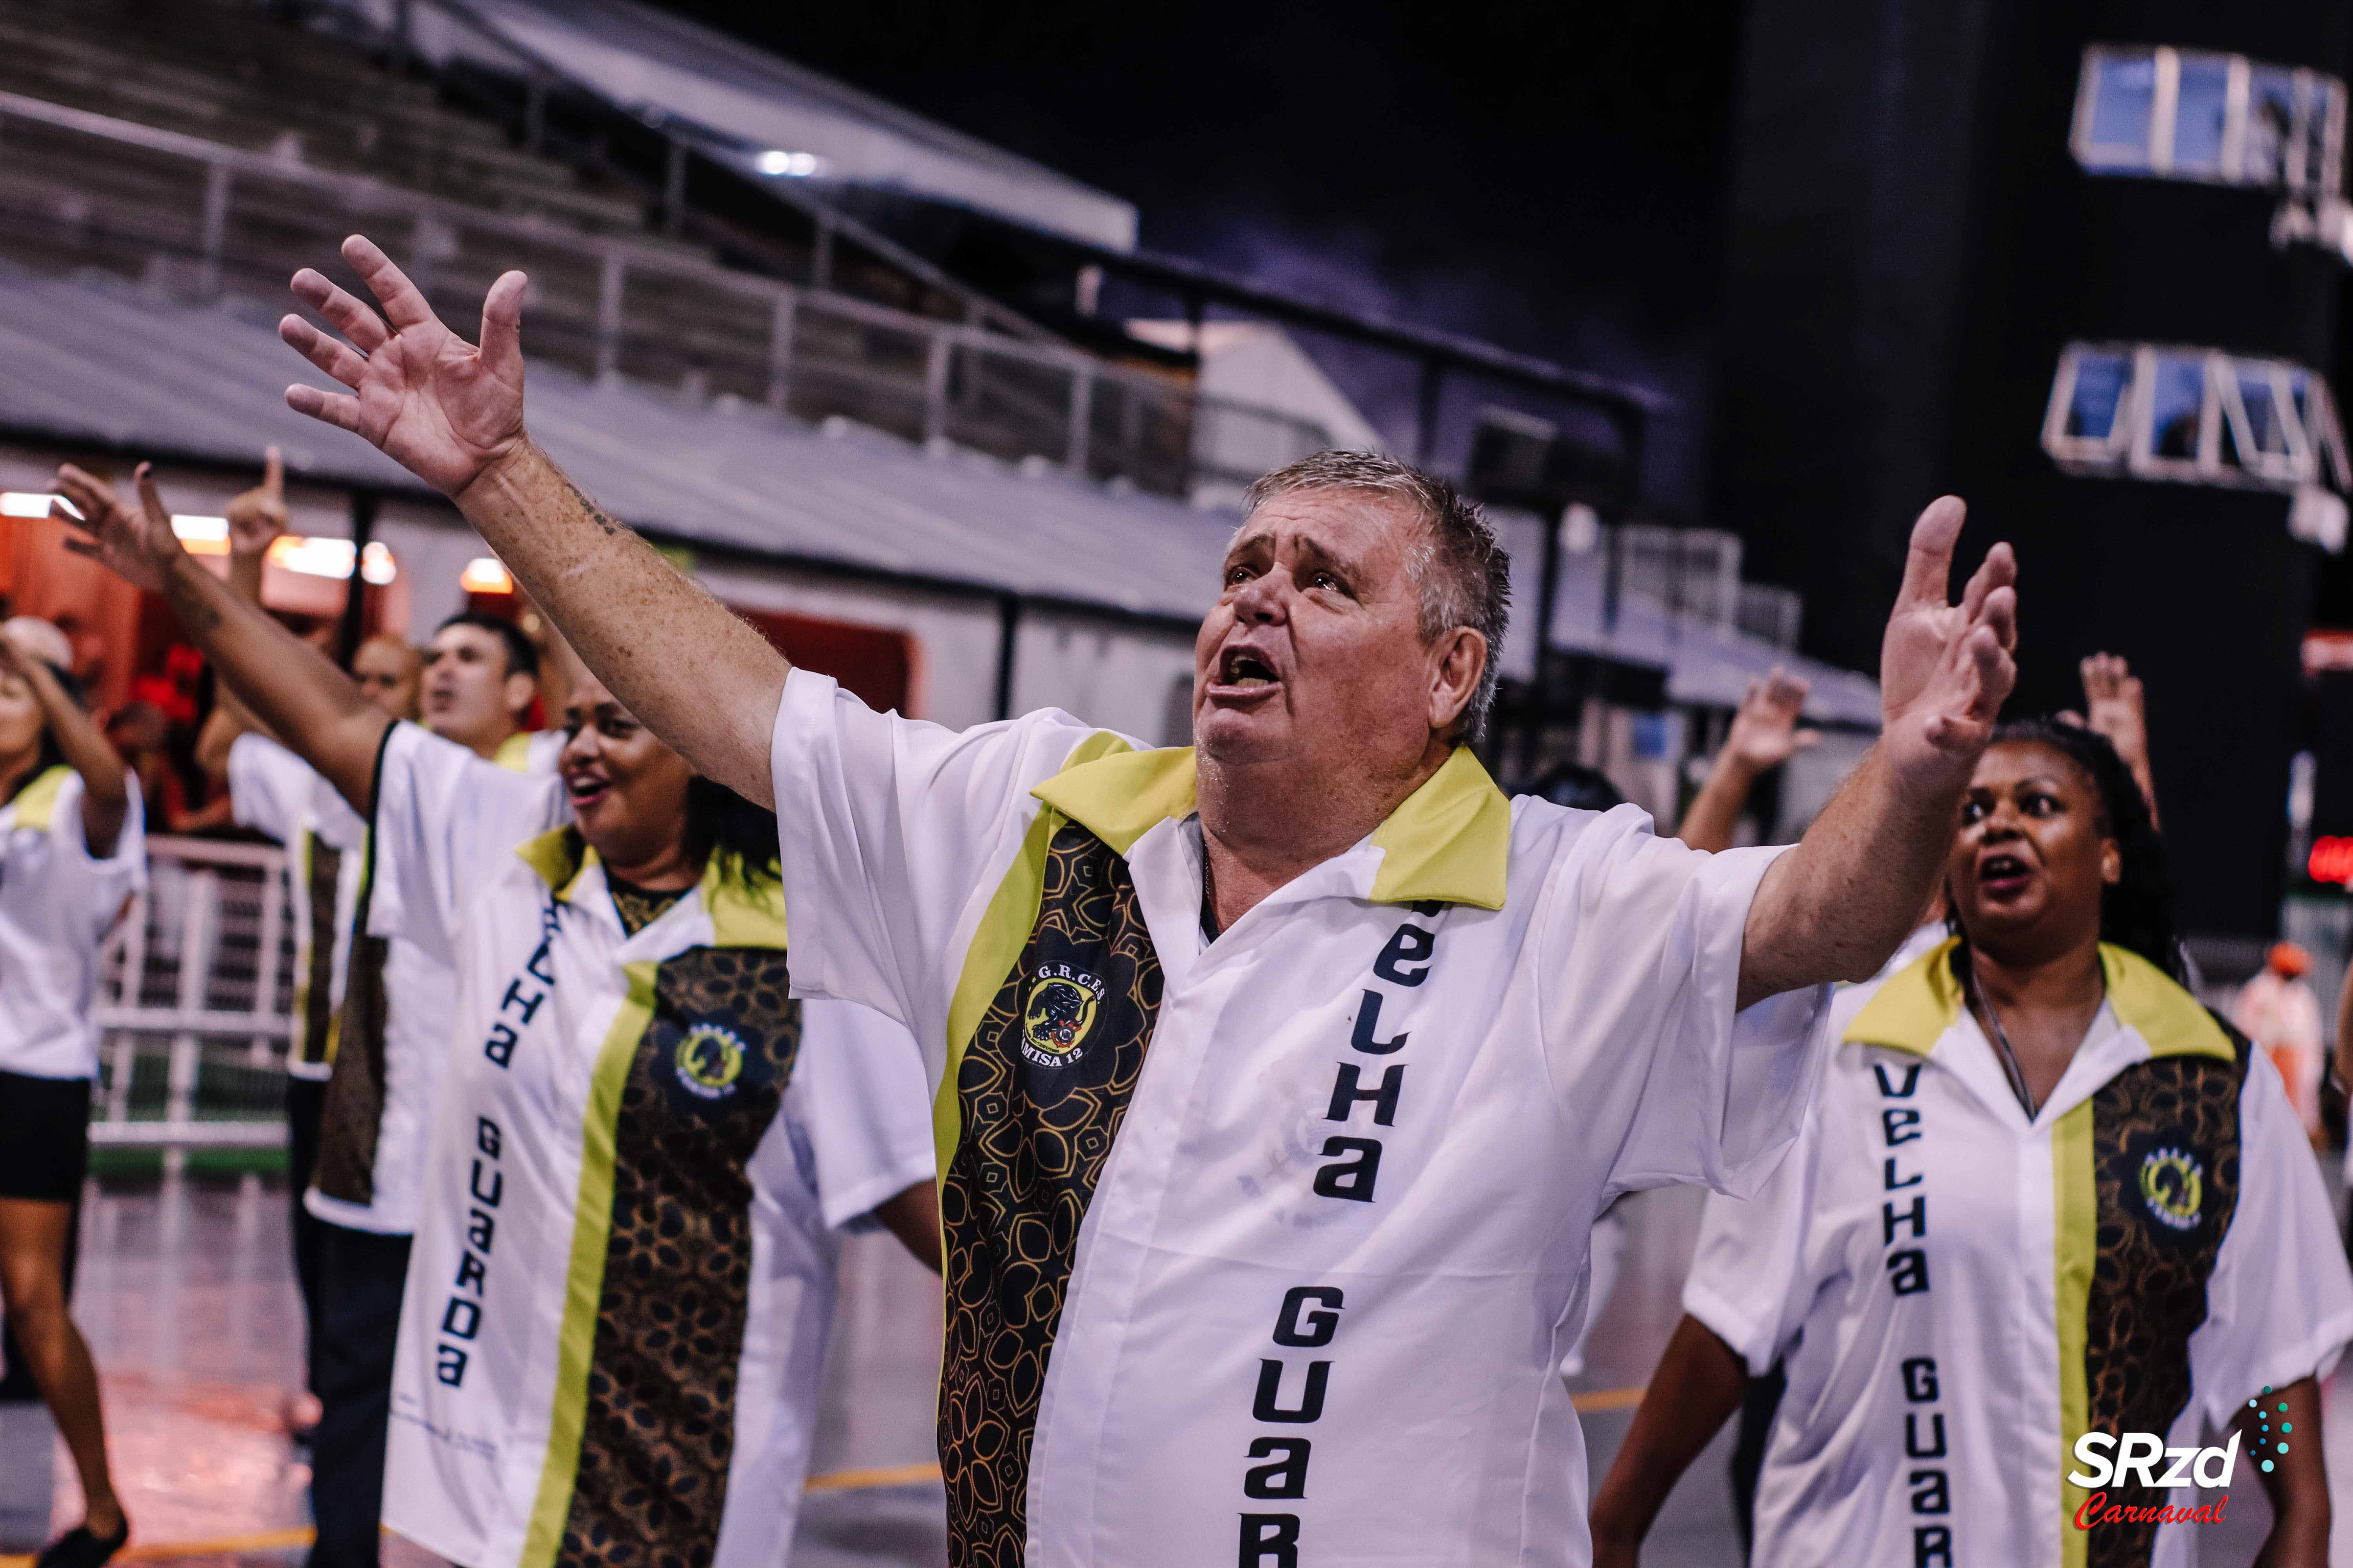
[[[1132,200],[1153,249],[1664,390],[1649,491],[1697,515],[1734,0],[666,2]],[[1412,371],[1322,357],[1402,442]]]

